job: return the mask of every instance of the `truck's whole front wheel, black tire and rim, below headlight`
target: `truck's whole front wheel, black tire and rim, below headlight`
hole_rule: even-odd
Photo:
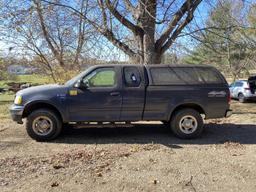
[[[36,141],[53,140],[60,134],[61,129],[60,117],[49,109],[33,111],[27,118],[27,133]]]

